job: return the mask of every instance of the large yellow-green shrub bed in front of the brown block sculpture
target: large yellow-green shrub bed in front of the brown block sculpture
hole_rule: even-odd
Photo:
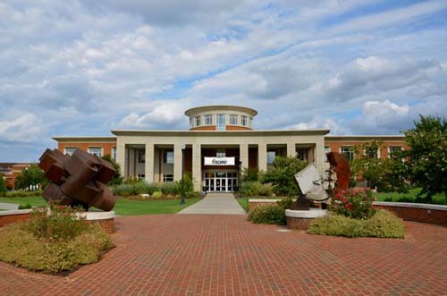
[[[0,230],[0,260],[47,273],[97,262],[113,243],[77,213],[71,207],[38,207],[30,221],[5,226]]]

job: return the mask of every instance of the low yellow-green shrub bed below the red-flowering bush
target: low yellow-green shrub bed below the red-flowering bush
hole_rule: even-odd
[[[381,209],[365,220],[342,215],[316,218],[310,224],[308,233],[346,237],[403,238],[405,226],[400,218]]]

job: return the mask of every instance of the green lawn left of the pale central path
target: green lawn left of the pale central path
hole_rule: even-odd
[[[116,215],[152,215],[152,214],[173,214],[184,207],[188,207],[199,199],[186,199],[186,205],[180,206],[179,199],[173,200],[130,200],[118,199],[114,207]],[[0,198],[0,202],[31,206],[45,206],[46,201],[42,198]]]

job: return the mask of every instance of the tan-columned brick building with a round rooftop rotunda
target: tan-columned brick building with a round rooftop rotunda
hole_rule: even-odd
[[[371,140],[384,142],[377,157],[405,148],[403,136],[332,136],[329,130],[253,129],[257,111],[241,106],[201,106],[185,112],[189,131],[112,131],[111,137],[55,137],[58,148],[72,154],[81,148],[97,156],[110,155],[125,178],[172,182],[190,173],[195,190],[233,191],[242,168],[267,170],[275,156],[296,156],[323,172],[325,153],[336,151],[352,159],[350,148]]]

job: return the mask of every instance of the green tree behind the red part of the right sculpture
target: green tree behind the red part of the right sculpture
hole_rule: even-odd
[[[357,158],[351,162],[351,173],[355,178],[363,177],[367,186],[378,191],[408,192],[406,168],[400,154],[390,158],[378,157],[384,143],[377,140],[353,148]]]

